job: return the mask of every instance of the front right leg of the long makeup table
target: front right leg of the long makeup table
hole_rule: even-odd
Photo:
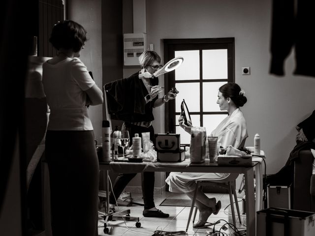
[[[254,174],[253,168],[247,170],[245,176],[245,196],[246,196],[246,230],[247,236],[255,236],[256,212],[254,203]]]

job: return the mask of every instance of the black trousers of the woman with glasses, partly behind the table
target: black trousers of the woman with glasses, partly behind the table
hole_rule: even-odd
[[[130,140],[132,140],[132,137],[134,137],[134,134],[139,134],[139,137],[141,137],[142,136],[141,133],[150,132],[150,140],[154,142],[154,129],[153,129],[152,125],[148,128],[128,124],[126,122],[125,122],[125,125],[126,125],[126,129],[129,131]],[[119,176],[116,178],[115,183],[113,185],[113,191],[109,195],[109,203],[110,204],[116,204],[115,198],[116,199],[119,198],[119,196],[124,191],[127,184],[135,176],[136,176],[136,173],[119,174]],[[144,209],[150,209],[152,207],[155,207],[155,204],[154,204],[154,182],[155,182],[155,173],[154,172],[141,173],[141,188],[142,188]]]

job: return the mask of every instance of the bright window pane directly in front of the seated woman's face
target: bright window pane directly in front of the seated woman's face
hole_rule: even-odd
[[[226,82],[202,83],[202,109],[204,112],[220,112],[217,104],[219,88]],[[186,101],[186,100],[185,100]]]

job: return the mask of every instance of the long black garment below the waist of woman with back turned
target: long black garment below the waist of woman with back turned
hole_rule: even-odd
[[[48,130],[45,146],[53,236],[97,236],[99,166],[93,130]]]

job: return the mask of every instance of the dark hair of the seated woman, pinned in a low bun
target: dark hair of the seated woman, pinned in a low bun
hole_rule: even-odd
[[[243,107],[247,102],[246,96],[244,96],[245,92],[241,89],[238,84],[235,83],[227,83],[222,85],[219,89],[224,98],[230,98],[236,107]]]

